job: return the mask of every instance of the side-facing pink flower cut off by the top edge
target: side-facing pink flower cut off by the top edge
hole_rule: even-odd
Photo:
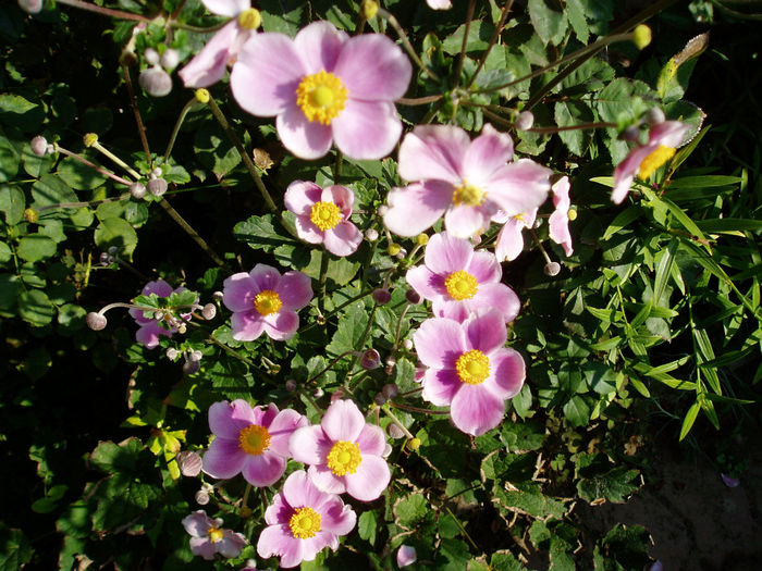
[[[201,0],[212,13],[234,20],[225,24],[207,42],[201,51],[177,75],[185,87],[209,87],[225,75],[228,64],[233,64],[244,42],[256,34],[261,23],[259,11],[251,8],[251,0]]]

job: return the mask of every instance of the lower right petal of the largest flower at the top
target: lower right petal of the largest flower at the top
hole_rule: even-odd
[[[394,103],[351,97],[331,122],[331,129],[336,148],[349,159],[377,160],[394,150],[402,135],[402,121]]]

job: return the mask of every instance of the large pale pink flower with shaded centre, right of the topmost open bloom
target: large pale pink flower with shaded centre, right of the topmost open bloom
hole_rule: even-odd
[[[418,125],[400,147],[400,176],[414,184],[389,194],[384,224],[415,236],[444,214],[447,232],[459,238],[481,234],[492,216],[514,216],[539,207],[551,188],[552,171],[529,159],[513,160],[511,137],[492,125],[476,139],[460,127]]]

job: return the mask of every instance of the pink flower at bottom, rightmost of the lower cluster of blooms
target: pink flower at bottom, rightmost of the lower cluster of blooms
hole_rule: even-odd
[[[288,443],[294,460],[310,464],[318,488],[361,501],[378,498],[389,485],[385,446],[383,430],[367,424],[352,400],[332,402],[319,425],[299,429]]]

